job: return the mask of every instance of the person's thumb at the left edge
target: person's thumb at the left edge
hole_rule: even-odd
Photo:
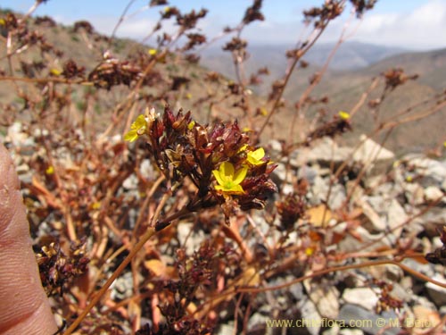
[[[20,183],[0,144],[0,334],[57,331],[31,248]]]

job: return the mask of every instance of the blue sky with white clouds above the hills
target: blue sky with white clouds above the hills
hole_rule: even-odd
[[[252,43],[290,43],[301,38],[305,30],[301,11],[321,4],[323,0],[264,0],[262,13],[266,21],[255,22],[244,32],[244,38]],[[162,7],[147,9],[148,0],[135,0],[131,15],[121,25],[118,35],[129,38],[144,38],[153,27]],[[1,8],[10,8],[25,13],[34,0],[2,0]],[[110,34],[127,0],[49,0],[41,4],[36,15],[50,15],[56,21],[71,24],[78,20],[90,21],[95,29]],[[210,10],[200,28],[209,37],[217,36],[227,25],[235,25],[252,0],[177,0],[169,4],[181,10]],[[349,7],[350,9],[350,7]],[[334,21],[321,38],[332,42],[340,36],[349,19],[350,11]],[[173,23],[167,29],[174,29]],[[354,20],[347,31],[351,40],[386,46],[400,46],[426,50],[446,47],[446,0],[378,0],[376,8],[367,13],[362,21]]]

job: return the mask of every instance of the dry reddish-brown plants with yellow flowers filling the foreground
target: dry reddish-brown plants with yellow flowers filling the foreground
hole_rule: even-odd
[[[236,80],[197,63],[194,49],[206,37],[194,27],[206,11],[151,4],[161,18],[153,31],[158,44],[150,48],[103,37],[86,21],[61,27],[30,13],[0,14],[4,143],[21,175],[41,278],[63,320],[61,333],[208,334],[229,323],[233,333],[255,333],[249,321],[260,307],[274,306],[270,319],[289,316],[287,310],[298,315],[288,304],[346,287],[373,289],[376,314],[394,310],[404,320],[413,302],[392,291],[404,273],[446,288],[404,263],[426,264],[426,254],[436,272],[446,263],[446,230],[417,221],[443,210],[444,189],[413,202],[412,193],[401,191],[389,201],[405,216],[389,214],[379,227],[361,198],[389,182],[410,187],[430,176],[401,161],[373,179],[379,152],[354,158],[368,138],[384,145],[401,125],[444,111],[446,91],[414,88],[416,73],[394,67],[376,71],[367,85],[351,77],[348,101],[318,86],[326,66],[302,88],[288,87],[307,68],[302,57],[328,23],[346,6],[360,20],[374,1],[330,0],[304,12],[311,33],[286,53],[285,76],[267,96],[252,94],[267,69],[244,75],[244,27],[264,19],[261,1],[226,31]],[[163,33],[166,20],[177,21],[176,34]],[[419,95],[415,105],[401,106],[404,94],[392,100],[405,89]],[[383,113],[385,104],[394,113]],[[338,138],[356,129],[368,136],[356,139],[349,155],[318,159],[318,176],[305,174],[311,166],[301,162],[313,147],[330,143],[335,150]],[[420,136],[415,128],[404,131]],[[136,141],[124,141],[126,133]],[[442,138],[428,140],[430,155],[441,157]],[[315,195],[319,177],[326,188]],[[345,197],[334,205],[339,188]],[[368,232],[379,239],[368,239]],[[401,271],[396,277],[389,274],[394,268]],[[301,297],[281,307],[301,282]],[[444,326],[444,317],[432,313],[425,333]]]

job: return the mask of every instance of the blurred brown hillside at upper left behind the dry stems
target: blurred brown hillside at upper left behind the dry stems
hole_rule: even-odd
[[[5,13],[8,11],[2,11],[0,8],[0,14]],[[16,15],[21,17],[20,13]],[[113,38],[110,40],[97,33],[93,26],[88,27],[89,22],[79,21],[78,23],[81,28],[76,29],[76,24],[64,26],[56,24],[51,18],[30,18],[28,20],[29,31],[35,31],[38,36],[44,37],[42,42],[27,48],[26,53],[22,53],[20,56],[11,57],[11,63],[8,60],[4,44],[0,44],[0,71],[3,71],[8,77],[29,77],[40,80],[47,76],[57,77],[51,71],[61,72],[64,64],[70,60],[76,60],[78,68],[84,69],[84,78],[106,63],[115,64],[118,67],[124,66],[120,74],[124,78],[127,75],[123,70],[126,66],[129,72],[132,71],[132,67],[142,71],[145,63],[150,59],[148,50],[151,46],[143,46],[130,39]],[[85,27],[82,28],[82,25]],[[41,46],[48,48],[49,51],[42,52]],[[107,54],[108,60],[103,58],[104,54]],[[208,70],[202,66],[187,62],[184,57],[179,57],[178,54],[169,53],[166,55],[166,60],[156,63],[151,75],[145,80],[140,92],[140,99],[145,101],[142,105],[153,105],[157,109],[163,109],[164,105],[169,103],[176,109],[194,110],[194,117],[201,121],[206,121],[210,113],[214,116],[219,115],[222,119],[235,118],[236,113],[220,113],[221,110],[227,110],[235,104],[232,96],[224,96],[225,92],[217,89],[224,82],[224,78],[210,83],[207,80],[207,73]],[[191,78],[194,80],[190,80]],[[220,80],[223,81],[220,82]],[[130,86],[135,84],[136,81],[129,83]],[[34,94],[38,95],[35,88],[27,83],[27,80],[18,80],[14,85],[20,87],[27,98]],[[25,117],[26,119],[27,113],[25,112],[28,110],[28,105],[21,97],[17,96],[14,85],[0,86],[2,104],[12,103],[16,112],[14,118]],[[166,88],[172,89],[166,91]],[[103,116],[114,113],[113,109],[128,96],[128,87],[125,84],[111,88],[101,88],[88,83],[85,86],[59,84],[54,89],[61,96],[70,92],[68,96],[72,104],[66,110],[62,110],[62,113],[69,115],[70,122],[73,124],[82,122],[82,115],[87,113],[87,117],[91,118],[90,121],[95,124],[98,130],[103,130],[106,127],[104,122],[108,118]],[[221,102],[218,111],[209,107],[214,99]],[[73,106],[75,109],[72,108]],[[137,112],[141,113],[144,108],[141,107],[141,110]],[[3,134],[4,125],[16,121],[12,120],[11,114],[4,113],[4,111],[0,113],[0,132]],[[114,131],[121,132],[124,127],[125,124],[122,124],[122,130],[115,129]]]

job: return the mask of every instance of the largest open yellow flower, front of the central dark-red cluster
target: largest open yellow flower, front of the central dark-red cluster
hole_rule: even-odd
[[[240,183],[244,181],[247,172],[248,168],[246,166],[235,172],[232,163],[221,163],[218,171],[212,171],[212,174],[219,183],[219,185],[215,186],[215,189],[227,194],[243,194],[244,188],[240,186]]]

